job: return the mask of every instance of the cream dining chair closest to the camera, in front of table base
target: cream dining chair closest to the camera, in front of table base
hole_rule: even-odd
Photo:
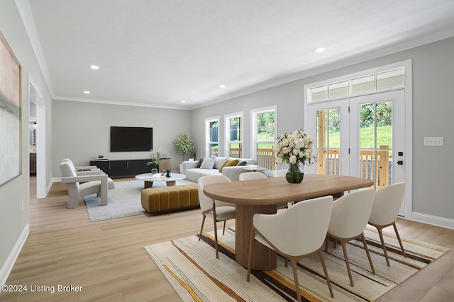
[[[304,257],[318,254],[325,273],[326,282],[331,297],[334,298],[331,282],[328,277],[325,260],[321,251],[323,240],[326,237],[328,224],[333,208],[333,197],[319,197],[307,199],[290,207],[287,211],[277,214],[255,214],[253,216],[253,228],[250,233],[248,274],[246,281],[250,281],[250,266],[253,257],[254,240],[275,250],[292,264],[295,281],[295,292],[298,301],[301,301],[299,294],[299,281],[297,265]]]

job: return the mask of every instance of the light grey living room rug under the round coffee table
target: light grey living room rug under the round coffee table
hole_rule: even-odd
[[[175,185],[188,185],[194,182],[177,180]],[[140,202],[140,192],[143,190],[143,180],[115,182],[115,188],[109,190],[109,203],[101,206],[101,197],[90,194],[84,197],[90,221],[116,219],[126,216],[145,214]],[[153,187],[165,187],[165,182],[155,181]]]

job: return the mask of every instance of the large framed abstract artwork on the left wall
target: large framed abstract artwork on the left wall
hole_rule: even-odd
[[[0,33],[0,186],[22,173],[21,64]]]

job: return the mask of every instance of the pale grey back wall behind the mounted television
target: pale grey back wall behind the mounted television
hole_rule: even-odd
[[[189,110],[143,108],[124,105],[54,100],[53,175],[60,177],[60,161],[71,158],[74,165],[89,165],[102,154],[114,159],[150,158],[150,152],[110,152],[110,127],[153,127],[153,151],[172,158],[172,170],[179,170],[182,156],[174,150],[177,135],[191,133]]]

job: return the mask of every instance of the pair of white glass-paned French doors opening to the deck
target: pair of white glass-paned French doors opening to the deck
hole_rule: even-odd
[[[376,190],[405,181],[404,89],[312,103],[308,109],[306,131],[316,134],[311,173],[367,178]],[[404,207],[405,202],[399,215]]]

